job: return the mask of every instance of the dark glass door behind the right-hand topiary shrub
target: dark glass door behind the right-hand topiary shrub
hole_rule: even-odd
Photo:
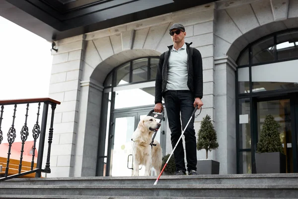
[[[280,124],[280,139],[286,155],[286,172],[296,173],[297,165],[297,128],[296,128],[296,98],[293,95],[284,98],[271,98],[258,100],[257,102],[257,140],[260,139],[260,133],[267,114],[273,115]]]

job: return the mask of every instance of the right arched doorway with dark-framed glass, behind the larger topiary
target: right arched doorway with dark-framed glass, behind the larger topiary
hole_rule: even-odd
[[[287,173],[298,172],[298,28],[250,43],[236,63],[237,173],[256,173],[266,114],[281,125]]]

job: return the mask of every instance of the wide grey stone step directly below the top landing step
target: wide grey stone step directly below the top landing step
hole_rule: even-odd
[[[243,185],[2,185],[1,195],[297,198],[298,184]],[[1,198],[0,195],[0,198]],[[113,199],[113,198],[112,198]]]

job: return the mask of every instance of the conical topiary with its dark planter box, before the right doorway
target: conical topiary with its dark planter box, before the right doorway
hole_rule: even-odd
[[[279,128],[274,117],[267,114],[255,154],[258,174],[286,173],[286,155],[283,153]]]

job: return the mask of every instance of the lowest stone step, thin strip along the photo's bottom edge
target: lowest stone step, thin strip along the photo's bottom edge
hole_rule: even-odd
[[[117,197],[117,196],[45,196],[45,195],[0,195],[1,199],[268,199],[268,198],[219,198],[219,197]],[[284,199],[284,198],[275,198]],[[289,198],[290,199],[290,198]],[[294,198],[293,198],[294,199]]]

